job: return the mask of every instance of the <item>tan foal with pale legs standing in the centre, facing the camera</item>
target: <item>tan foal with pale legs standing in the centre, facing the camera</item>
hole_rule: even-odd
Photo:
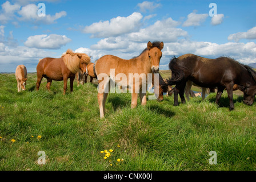
[[[148,42],[147,48],[141,55],[133,59],[124,60],[117,56],[105,55],[97,60],[94,69],[96,73],[95,76],[97,76],[99,82],[98,104],[101,118],[105,117],[105,102],[110,90],[108,84],[110,84],[111,80],[115,83],[118,82],[118,84],[122,84],[123,89],[129,88],[131,90],[131,108],[137,106],[138,93],[141,98],[141,105],[146,105],[146,91],[145,89],[143,90],[143,85],[145,85],[144,83],[148,80],[148,77],[150,77],[150,73],[158,73],[162,49],[163,42]],[[113,71],[114,75],[111,77],[111,72]],[[142,79],[140,79],[140,77]],[[157,84],[155,86],[157,86]]]

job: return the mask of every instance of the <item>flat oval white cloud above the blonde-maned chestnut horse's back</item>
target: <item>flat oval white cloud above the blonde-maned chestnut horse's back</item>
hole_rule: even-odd
[[[71,42],[71,39],[65,35],[50,34],[47,35],[34,35],[27,38],[24,43],[27,47],[34,47],[39,49],[59,49]]]

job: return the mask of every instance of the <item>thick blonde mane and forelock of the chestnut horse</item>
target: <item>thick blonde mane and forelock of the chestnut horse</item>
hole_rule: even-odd
[[[86,55],[86,53],[75,53],[71,49],[67,49],[67,52],[63,53],[61,57],[63,57],[64,63],[69,71],[74,74],[79,72],[80,61],[85,64],[89,64],[91,61],[90,57]]]

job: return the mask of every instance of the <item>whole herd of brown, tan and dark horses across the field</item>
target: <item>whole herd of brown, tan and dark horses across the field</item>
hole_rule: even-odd
[[[98,84],[103,85],[103,92],[98,92],[98,104],[101,118],[105,117],[105,102],[110,90],[109,79],[114,69],[114,82],[122,83],[122,89],[131,90],[131,107],[137,106],[138,94],[141,99],[141,105],[146,105],[146,93],[142,92],[143,80],[135,81],[130,84],[130,74],[146,75],[146,81],[154,86],[155,96],[158,101],[163,100],[163,92],[170,92],[171,85],[175,85],[172,90],[174,93],[174,106],[178,105],[178,95],[181,102],[185,103],[184,93],[189,100],[188,94],[191,85],[202,87],[203,98],[205,98],[205,89],[213,90],[217,88],[216,104],[223,93],[227,90],[230,102],[230,110],[234,109],[233,90],[239,89],[243,92],[243,103],[252,105],[256,94],[256,72],[247,65],[243,65],[231,59],[230,57],[218,57],[217,59],[207,59],[193,54],[185,54],[179,57],[173,57],[169,63],[171,78],[164,80],[159,73],[159,62],[162,57],[163,42],[148,42],[147,47],[142,53],[130,60],[121,59],[113,55],[105,55],[95,61],[90,62],[90,57],[85,53],[75,53],[68,49],[61,58],[45,57],[39,60],[37,65],[37,90],[41,84],[42,78],[47,79],[47,89],[53,80],[64,82],[63,94],[66,93],[67,80],[70,78],[70,92],[73,91],[73,82],[75,76],[84,78],[87,76],[97,78]],[[124,77],[118,76],[123,74]],[[102,78],[107,75],[106,78]],[[27,71],[24,65],[19,65],[16,69],[18,92],[25,90],[27,81]],[[149,77],[151,75],[151,77]],[[127,76],[127,77],[126,77]],[[112,75],[113,77],[113,75]],[[134,78],[135,79],[135,78]],[[157,80],[157,81],[156,81]],[[81,80],[78,80],[78,85]],[[83,81],[82,81],[83,82]],[[104,83],[103,83],[104,82]],[[127,84],[129,82],[129,84]],[[103,84],[102,84],[103,83]],[[159,83],[159,84],[158,84]],[[98,88],[99,88],[98,85]],[[100,86],[100,87],[101,87]],[[136,92],[139,90],[139,92]],[[157,90],[157,92],[156,92]],[[171,92],[170,92],[171,93]]]

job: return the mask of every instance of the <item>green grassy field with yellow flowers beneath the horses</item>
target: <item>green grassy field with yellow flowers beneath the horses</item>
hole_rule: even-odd
[[[36,79],[29,73],[27,90],[17,93],[14,74],[0,74],[1,170],[256,169],[256,104],[244,105],[238,94],[234,111],[226,93],[219,106],[213,93],[203,102],[191,98],[174,107],[165,96],[135,109],[130,94],[109,94],[100,119],[97,85],[75,82],[63,96],[62,81],[47,92],[44,78],[35,92]],[[39,151],[45,164],[38,164]],[[217,164],[209,163],[210,151]]]

